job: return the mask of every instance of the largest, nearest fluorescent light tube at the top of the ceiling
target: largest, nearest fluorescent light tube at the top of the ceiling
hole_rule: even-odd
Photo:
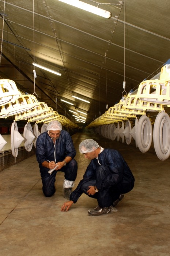
[[[83,3],[82,1],[79,1],[79,0],[58,0],[58,1],[78,7],[84,11],[92,12],[93,14],[97,14],[107,19],[110,18],[111,16],[110,12],[105,11],[101,8],[95,7],[91,4]]]

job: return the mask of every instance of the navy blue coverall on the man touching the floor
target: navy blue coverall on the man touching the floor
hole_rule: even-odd
[[[120,194],[128,193],[134,187],[135,178],[122,155],[114,149],[104,149],[98,159],[92,159],[70,200],[77,202],[82,193],[88,195],[88,186],[99,190],[94,195],[100,207],[109,207]]]

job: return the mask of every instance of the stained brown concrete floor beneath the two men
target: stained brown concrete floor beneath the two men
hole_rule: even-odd
[[[78,161],[76,184],[88,160],[79,143],[95,139],[104,148],[121,152],[135,176],[135,187],[110,215],[91,217],[96,199],[82,195],[68,212],[60,208],[64,175],[56,176],[56,193],[42,194],[35,156],[0,172],[1,256],[169,256],[170,255],[170,159],[102,138],[76,133],[72,136]]]

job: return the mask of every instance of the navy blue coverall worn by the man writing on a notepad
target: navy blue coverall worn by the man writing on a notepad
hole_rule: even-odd
[[[36,157],[39,163],[39,170],[42,179],[42,191],[45,196],[49,197],[55,193],[55,181],[57,171],[54,170],[50,175],[49,169],[42,166],[44,161],[62,162],[65,157],[71,157],[72,160],[63,166],[61,172],[64,172],[66,180],[75,181],[77,177],[78,165],[74,159],[76,150],[73,145],[73,141],[69,133],[65,130],[61,130],[59,138],[56,140],[55,146],[53,140],[48,135],[48,132],[43,132],[37,138],[36,143]]]

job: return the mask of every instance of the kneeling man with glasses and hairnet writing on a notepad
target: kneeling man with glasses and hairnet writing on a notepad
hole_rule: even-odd
[[[39,135],[36,143],[36,157],[45,196],[49,197],[55,193],[56,174],[61,171],[64,172],[65,177],[63,196],[69,200],[78,170],[75,155],[76,150],[69,133],[62,130],[60,122],[51,121],[47,132]],[[50,174],[49,170],[53,168],[55,170]]]

